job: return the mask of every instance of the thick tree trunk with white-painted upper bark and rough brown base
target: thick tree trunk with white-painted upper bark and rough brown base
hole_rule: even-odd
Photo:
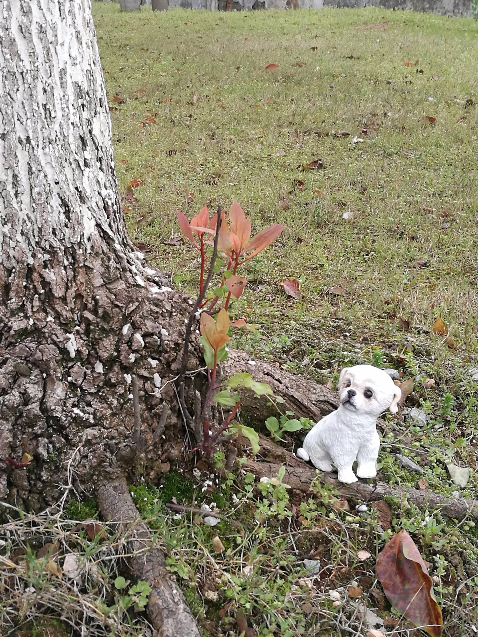
[[[154,430],[190,305],[126,235],[89,0],[3,3],[0,44],[0,499],[38,510],[70,459],[93,484],[180,455],[177,409]]]

